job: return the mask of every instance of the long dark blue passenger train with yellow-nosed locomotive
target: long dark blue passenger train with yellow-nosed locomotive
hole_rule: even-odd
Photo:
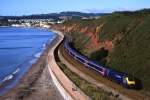
[[[80,63],[84,64],[87,68],[93,69],[100,73],[102,76],[115,81],[118,84],[121,84],[125,88],[134,88],[136,85],[135,78],[122,73],[116,70],[113,70],[109,67],[103,66],[101,64],[96,63],[88,59],[87,57],[79,54],[76,50],[70,47],[69,41],[67,39],[64,40],[64,48],[67,53],[72,56],[75,60],[79,61]]]

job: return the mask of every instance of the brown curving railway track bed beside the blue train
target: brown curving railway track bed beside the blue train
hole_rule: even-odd
[[[76,70],[80,71],[81,73],[84,73],[84,77],[87,77],[87,79],[92,78],[94,82],[97,82],[99,84],[103,84],[104,86],[100,86],[100,88],[103,88],[104,90],[111,90],[115,94],[119,93],[120,96],[122,96],[124,99],[126,97],[129,97],[133,100],[150,100],[150,96],[145,95],[145,93],[142,90],[131,90],[131,89],[125,89],[124,87],[112,82],[111,80],[108,80],[104,77],[102,77],[99,73],[97,73],[94,70],[88,69],[83,64],[79,63],[78,61],[74,60],[68,53],[64,50],[63,46],[61,45],[59,48],[59,56],[62,56],[64,58],[63,63],[68,65],[67,62],[70,64],[69,66],[73,66]],[[67,61],[67,62],[66,62]],[[73,69],[69,68],[70,70]],[[72,70],[73,71],[73,70]],[[76,74],[80,74],[79,72]],[[83,79],[85,79],[83,76],[79,75]],[[85,80],[87,80],[85,79]],[[88,80],[89,81],[89,80]],[[93,81],[90,81],[93,83]],[[96,85],[96,84],[94,84]],[[106,87],[109,87],[108,89]],[[117,91],[117,92],[116,92]],[[123,94],[123,95],[122,95]]]

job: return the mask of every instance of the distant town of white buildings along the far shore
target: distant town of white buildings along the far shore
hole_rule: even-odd
[[[0,18],[0,26],[13,26],[13,27],[43,27],[50,28],[53,24],[65,22],[65,19],[54,20],[48,19],[4,19]]]

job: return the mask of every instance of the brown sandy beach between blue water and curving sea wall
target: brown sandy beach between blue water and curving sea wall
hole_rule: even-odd
[[[39,60],[31,66],[18,85],[0,100],[62,100],[60,93],[51,80],[46,66],[48,51],[57,42],[56,39],[47,47]]]

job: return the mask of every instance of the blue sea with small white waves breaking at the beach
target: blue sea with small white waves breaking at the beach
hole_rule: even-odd
[[[18,84],[55,38],[47,29],[0,27],[0,96]]]

